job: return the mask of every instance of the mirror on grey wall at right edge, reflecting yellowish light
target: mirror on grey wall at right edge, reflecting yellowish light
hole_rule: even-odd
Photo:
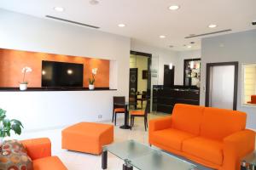
[[[256,63],[242,65],[242,105],[256,106]]]

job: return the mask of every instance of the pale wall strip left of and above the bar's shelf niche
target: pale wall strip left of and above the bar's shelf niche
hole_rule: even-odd
[[[175,85],[183,85],[184,59],[197,58],[201,58],[201,49],[177,52],[177,64],[175,65]]]

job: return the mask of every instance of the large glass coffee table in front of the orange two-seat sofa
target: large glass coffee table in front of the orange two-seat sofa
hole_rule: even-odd
[[[123,170],[198,170],[197,166],[134,140],[104,146],[102,169],[108,167],[108,152],[125,161]]]

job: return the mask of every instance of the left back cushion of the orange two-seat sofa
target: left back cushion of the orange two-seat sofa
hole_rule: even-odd
[[[200,133],[204,107],[198,105],[175,105],[172,111],[172,127],[187,133]]]

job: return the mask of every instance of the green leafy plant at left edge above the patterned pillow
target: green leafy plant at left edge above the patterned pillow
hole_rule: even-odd
[[[6,118],[6,111],[0,109],[0,145],[3,144],[3,139],[10,136],[10,131],[14,131],[15,134],[21,134],[21,127],[23,125],[20,121],[16,119]]]

